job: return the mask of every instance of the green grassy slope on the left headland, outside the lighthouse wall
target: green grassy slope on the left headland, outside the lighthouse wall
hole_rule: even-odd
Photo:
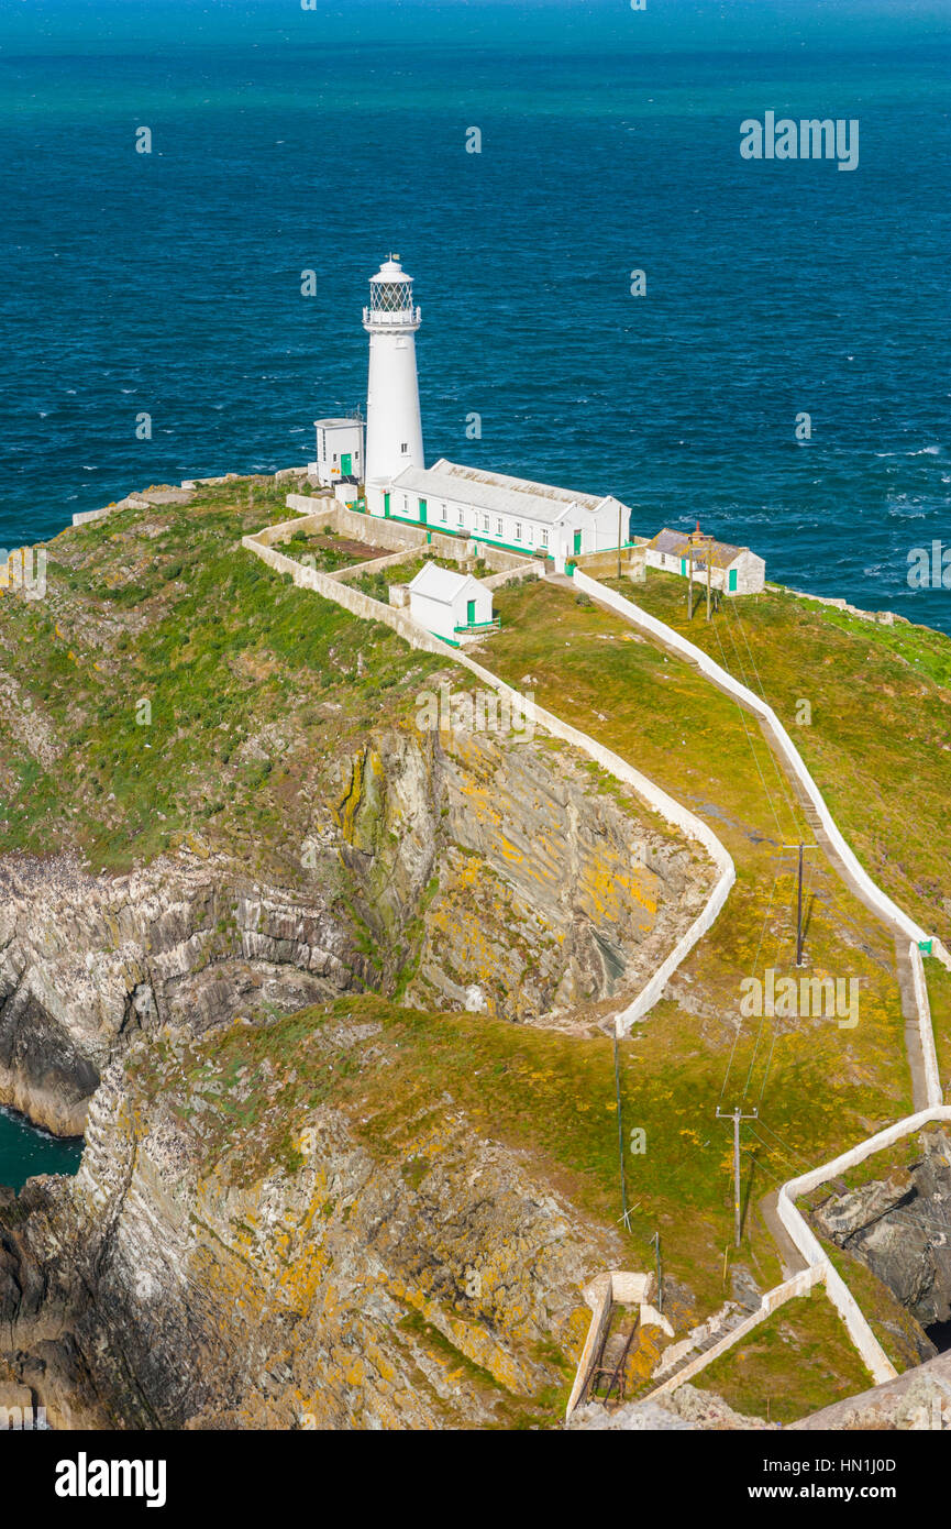
[[[321,769],[405,717],[440,665],[243,552],[286,515],[272,483],[252,489],[66,531],[46,599],[0,601],[0,668],[23,687],[23,725],[0,739],[0,852],[124,870],[199,833],[300,875]],[[31,716],[63,749],[46,768],[17,735]]]

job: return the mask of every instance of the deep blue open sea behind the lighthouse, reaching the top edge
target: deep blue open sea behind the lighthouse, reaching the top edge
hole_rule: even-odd
[[[858,170],[743,161],[766,110],[858,118]],[[905,576],[951,543],[949,113],[948,3],[5,0],[0,546],[312,457],[396,251],[428,460],[951,630]]]

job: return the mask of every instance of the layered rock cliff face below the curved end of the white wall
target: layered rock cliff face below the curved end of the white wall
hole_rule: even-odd
[[[339,992],[523,1020],[598,1001],[645,979],[709,884],[567,752],[460,734],[387,729],[344,757],[310,804],[304,887],[196,844],[116,878],[0,862],[0,1102],[81,1133],[133,1034]]]

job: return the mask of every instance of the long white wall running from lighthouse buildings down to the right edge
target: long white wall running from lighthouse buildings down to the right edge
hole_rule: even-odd
[[[836,823],[832,813],[829,812],[829,807],[826,806],[820,787],[809,774],[806,761],[803,760],[800,751],[797,749],[795,743],[786,732],[786,728],[777,717],[772,706],[769,706],[760,696],[757,696],[746,685],[742,685],[737,679],[734,679],[732,674],[728,674],[726,670],[722,668],[719,664],[716,664],[714,659],[711,659],[702,648],[696,647],[693,642],[688,642],[686,638],[682,638],[677,631],[673,630],[673,627],[668,627],[662,621],[657,621],[656,616],[648,616],[645,610],[641,610],[639,605],[635,605],[630,599],[625,599],[624,595],[618,595],[613,589],[607,589],[604,584],[599,584],[598,579],[593,579],[589,573],[584,573],[581,569],[575,569],[573,583],[579,590],[584,590],[587,595],[592,595],[593,599],[599,599],[602,604],[610,605],[612,610],[616,610],[618,615],[624,616],[625,621],[633,622],[633,625],[641,627],[644,631],[650,631],[653,636],[659,638],[668,647],[674,648],[677,653],[682,653],[683,657],[696,664],[702,670],[702,673],[706,674],[708,679],[711,679],[722,690],[729,691],[732,696],[737,697],[737,700],[740,700],[745,706],[749,706],[751,711],[754,711],[758,717],[761,717],[764,722],[769,723],[786,764],[800,781],[803,790],[809,797],[809,801],[818,812],[820,821],[826,833],[835,844],[835,849],[838,850],[841,859],[846,862],[852,876],[862,887],[868,901],[882,914],[884,919],[887,919],[890,924],[896,924],[904,931],[904,934],[916,945],[919,940],[931,939],[934,954],[951,971],[951,956],[948,954],[942,942],[927,934],[927,931],[922,930],[920,925],[914,922],[914,919],[911,919],[907,913],[904,913],[897,907],[897,904],[893,902],[891,898],[871,881],[868,872],[862,867],[858,856],[849,847],[839,829],[836,827]]]

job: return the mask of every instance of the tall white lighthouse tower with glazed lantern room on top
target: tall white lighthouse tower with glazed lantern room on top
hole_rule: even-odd
[[[399,260],[384,260],[370,277],[370,306],[364,309],[364,329],[370,336],[367,483],[391,480],[404,468],[425,466],[416,376],[419,323],[413,277]]]

